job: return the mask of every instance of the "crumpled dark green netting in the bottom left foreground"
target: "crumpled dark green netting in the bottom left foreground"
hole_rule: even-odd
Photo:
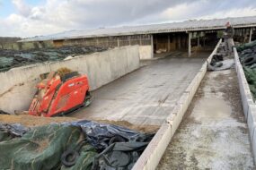
[[[51,124],[32,129],[21,138],[0,133],[0,169],[13,170],[76,170],[91,169],[97,152],[84,144],[75,166],[61,165],[60,157],[66,149],[74,149],[85,140],[84,133],[74,126]]]

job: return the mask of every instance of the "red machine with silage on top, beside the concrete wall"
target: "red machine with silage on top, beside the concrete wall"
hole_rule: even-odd
[[[75,109],[86,106],[90,100],[89,84],[85,75],[68,72],[60,76],[49,72],[46,79],[37,85],[29,115],[66,115]]]

